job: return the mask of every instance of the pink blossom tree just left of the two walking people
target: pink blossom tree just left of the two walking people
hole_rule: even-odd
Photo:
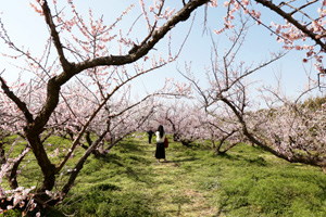
[[[128,92],[130,89],[126,91]],[[86,150],[92,144],[95,136],[103,138],[102,135],[104,135],[103,140],[100,141],[101,145],[93,150],[96,156],[105,156],[125,137],[142,130],[155,111],[154,93],[138,102],[133,102],[127,92],[124,92],[120,100],[108,102],[85,133],[86,144],[84,143],[82,146]]]

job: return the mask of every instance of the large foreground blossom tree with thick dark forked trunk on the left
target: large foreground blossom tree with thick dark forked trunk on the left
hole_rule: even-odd
[[[150,51],[178,23],[187,21],[191,12],[209,1],[189,1],[179,9],[172,10],[165,7],[165,1],[154,1],[152,5],[149,5],[149,10],[143,1],[139,2],[148,33],[140,42],[137,38],[129,36],[129,31],[134,30],[133,28],[127,33],[120,30],[114,34],[113,31],[118,22],[127,15],[130,8],[112,25],[104,25],[102,17],[93,18],[90,10],[89,23],[87,24],[82,14],[77,12],[72,0],[68,1],[71,12],[67,14],[65,13],[66,10],[63,7],[61,8],[57,1],[50,3],[46,0],[37,0],[36,3],[32,3],[32,7],[36,13],[45,18],[49,30],[49,39],[46,41],[45,52],[41,56],[37,56],[32,51],[21,48],[12,41],[10,33],[5,30],[5,24],[1,22],[0,38],[13,51],[13,54],[8,54],[7,58],[11,58],[13,61],[24,59],[27,66],[23,66],[21,69],[30,72],[34,75],[30,82],[20,80],[20,84],[17,84],[17,87],[28,89],[27,92],[18,91],[15,87],[10,86],[2,75],[0,82],[5,101],[10,99],[8,106],[18,114],[13,116],[20,117],[20,122],[16,122],[20,125],[17,128],[27,141],[26,150],[22,153],[22,156],[29,149],[32,150],[42,174],[42,181],[39,187],[29,189],[15,188],[11,191],[4,191],[1,187],[0,197],[3,203],[1,203],[0,210],[10,208],[28,210],[36,205],[47,207],[55,205],[65,197],[85,161],[98,146],[99,142],[91,143],[77,161],[67,182],[58,193],[53,194],[51,190],[55,184],[55,177],[64,169],[92,120],[104,108],[112,95],[126,84],[178,56],[179,52],[175,55],[168,52],[166,58],[162,55],[156,58]],[[112,47],[114,41],[116,48],[118,48],[117,51],[109,49],[109,44]],[[117,54],[114,54],[114,52]],[[149,60],[151,60],[151,65],[147,64]],[[142,61],[143,64],[136,63],[137,61]],[[136,63],[134,74],[126,67],[130,63]],[[64,90],[68,82],[78,80],[83,76],[89,78],[87,82],[92,82],[91,86],[98,87],[99,92],[95,92],[95,94],[99,95],[97,97],[99,103],[78,117],[75,111],[70,107],[67,99],[70,95],[66,95]],[[87,86],[88,84],[82,81],[80,85]],[[89,89],[92,88],[89,87]],[[50,129],[49,124],[55,123],[55,118],[60,115],[59,106],[62,103],[66,104],[71,117],[76,118],[80,129],[78,129],[78,136],[64,154],[63,159],[54,164],[45,149],[42,137]],[[70,119],[71,117],[63,118]],[[62,120],[64,123],[64,119],[61,118],[60,122],[62,123]],[[104,138],[105,135],[102,133],[101,137]],[[101,138],[97,141],[100,140]],[[21,155],[1,166],[1,181],[3,181],[4,174],[8,174],[8,169],[12,167],[11,162],[20,162],[20,158]],[[30,193],[32,191],[34,193]]]

